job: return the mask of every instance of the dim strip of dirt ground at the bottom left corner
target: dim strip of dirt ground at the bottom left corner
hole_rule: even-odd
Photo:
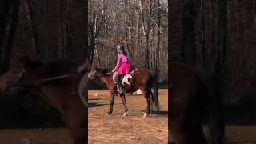
[[[71,144],[69,131],[58,129],[0,130],[1,144]]]

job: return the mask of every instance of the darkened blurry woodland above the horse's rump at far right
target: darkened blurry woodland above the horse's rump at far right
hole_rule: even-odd
[[[169,60],[218,74],[223,98],[254,106],[256,1],[171,0],[169,4]]]

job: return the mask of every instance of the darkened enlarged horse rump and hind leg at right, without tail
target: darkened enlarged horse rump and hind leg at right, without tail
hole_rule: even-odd
[[[171,134],[178,143],[205,143],[201,122],[205,114],[206,87],[192,66],[170,62]],[[183,132],[182,132],[183,131]]]

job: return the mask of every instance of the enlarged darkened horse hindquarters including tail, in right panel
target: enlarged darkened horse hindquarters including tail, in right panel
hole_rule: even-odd
[[[211,80],[202,78],[198,70],[170,62],[170,134],[175,144],[222,144],[224,121],[222,104]],[[202,131],[208,115],[209,139]]]

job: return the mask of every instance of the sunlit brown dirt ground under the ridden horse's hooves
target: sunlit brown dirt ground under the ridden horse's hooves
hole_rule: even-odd
[[[168,90],[160,90],[161,113],[142,118],[146,102],[142,95],[126,96],[128,117],[120,97],[115,98],[112,115],[107,90],[89,91],[89,143],[167,143],[168,141]]]

